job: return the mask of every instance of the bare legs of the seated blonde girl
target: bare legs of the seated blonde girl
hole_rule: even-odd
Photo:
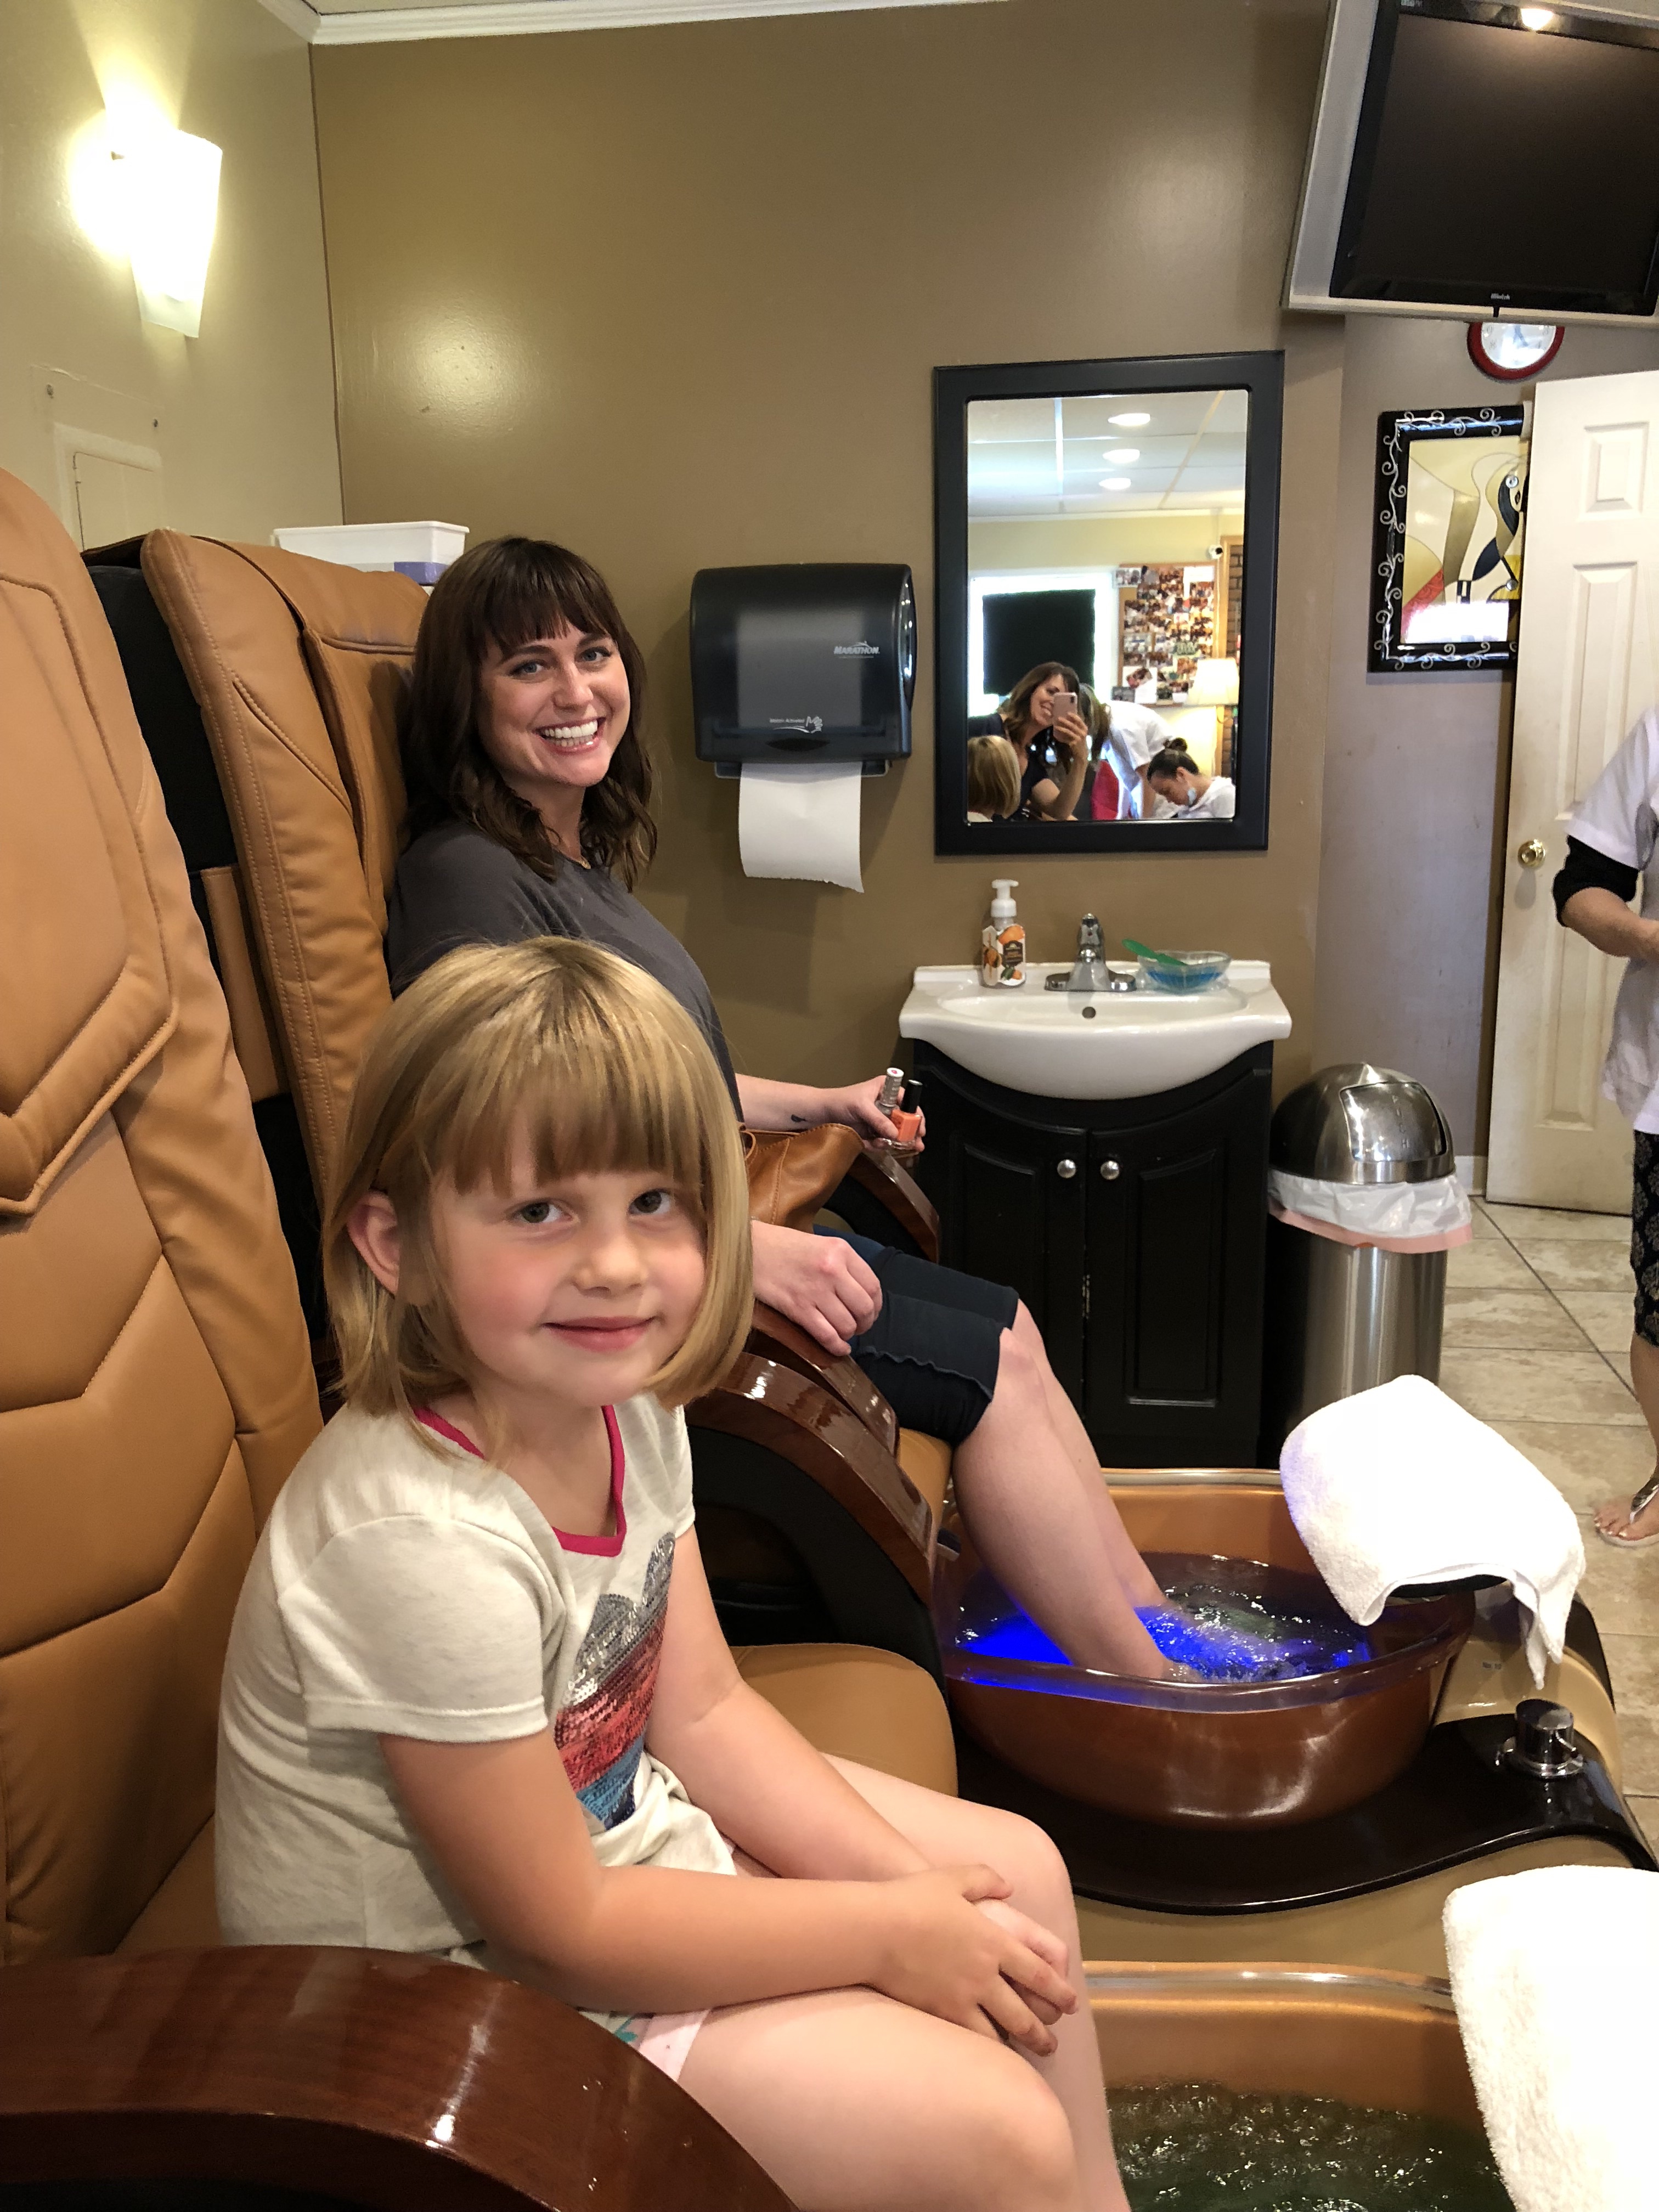
[[[1029,1820],[836,1759],[933,1865],[984,1860],[1051,1929],[1079,1997],[1077,1913]],[[1128,2212],[1086,2002],[1048,2059],[878,1997],[830,1991],[714,2013],[681,2086],[803,2212]]]

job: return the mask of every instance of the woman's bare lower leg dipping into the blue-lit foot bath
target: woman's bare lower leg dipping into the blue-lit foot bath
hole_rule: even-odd
[[[1055,1427],[1051,1389],[1060,1385],[1040,1340],[1033,1354],[1018,1329],[1004,1329],[995,1394],[951,1462],[962,1520],[1002,1588],[1068,1659],[1161,1679],[1170,1663],[1135,1619],[1137,1604],[1157,1604],[1157,1584],[1121,1533],[1099,1467],[1093,1486],[1084,1482],[1075,1440]],[[1124,1548],[1139,1571],[1135,1590]]]

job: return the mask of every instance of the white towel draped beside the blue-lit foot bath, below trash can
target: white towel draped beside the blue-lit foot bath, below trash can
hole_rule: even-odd
[[[1409,1582],[1500,1575],[1528,1613],[1526,1661],[1544,1681],[1584,1537],[1555,1484],[1495,1429],[1422,1376],[1398,1376],[1310,1413],[1279,1467],[1290,1517],[1352,1619],[1374,1621]]]

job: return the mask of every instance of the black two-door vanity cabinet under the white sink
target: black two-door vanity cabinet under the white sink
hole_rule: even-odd
[[[1272,1046],[1141,1099],[916,1073],[940,1259],[1020,1292],[1102,1464],[1252,1467]]]

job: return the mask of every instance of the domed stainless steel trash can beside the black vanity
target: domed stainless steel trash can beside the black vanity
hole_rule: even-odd
[[[1325,1183],[1427,1183],[1453,1172],[1451,1130],[1422,1084],[1358,1062],[1281,1102],[1270,1161]],[[1440,1380],[1444,1252],[1347,1245],[1267,1221],[1263,1451],[1321,1405],[1391,1383]],[[1272,1464],[1272,1462],[1270,1462]]]

